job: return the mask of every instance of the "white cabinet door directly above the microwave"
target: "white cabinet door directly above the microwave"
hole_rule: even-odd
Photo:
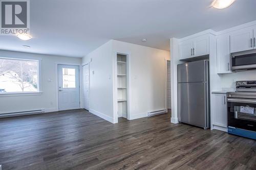
[[[253,29],[245,28],[230,34],[230,52],[241,52],[253,48]]]

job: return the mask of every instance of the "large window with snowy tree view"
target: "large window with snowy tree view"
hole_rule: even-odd
[[[0,58],[0,93],[38,92],[38,60]]]

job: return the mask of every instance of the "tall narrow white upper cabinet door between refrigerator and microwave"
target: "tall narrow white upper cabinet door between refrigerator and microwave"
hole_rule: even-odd
[[[231,72],[229,34],[224,34],[217,37],[217,73],[229,72]]]

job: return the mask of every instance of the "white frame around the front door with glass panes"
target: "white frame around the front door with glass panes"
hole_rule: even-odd
[[[55,84],[55,89],[56,89],[56,105],[57,108],[56,110],[59,111],[59,88],[58,88],[58,65],[75,65],[79,67],[79,109],[81,109],[82,105],[81,105],[81,101],[82,101],[82,94],[81,94],[81,88],[82,88],[82,84],[81,84],[81,64],[77,64],[77,63],[69,63],[69,62],[55,62],[55,80],[56,80],[56,84]]]

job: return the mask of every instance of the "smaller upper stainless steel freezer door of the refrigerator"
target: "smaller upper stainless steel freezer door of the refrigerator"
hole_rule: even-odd
[[[205,82],[205,60],[188,62],[178,65],[178,83]]]

